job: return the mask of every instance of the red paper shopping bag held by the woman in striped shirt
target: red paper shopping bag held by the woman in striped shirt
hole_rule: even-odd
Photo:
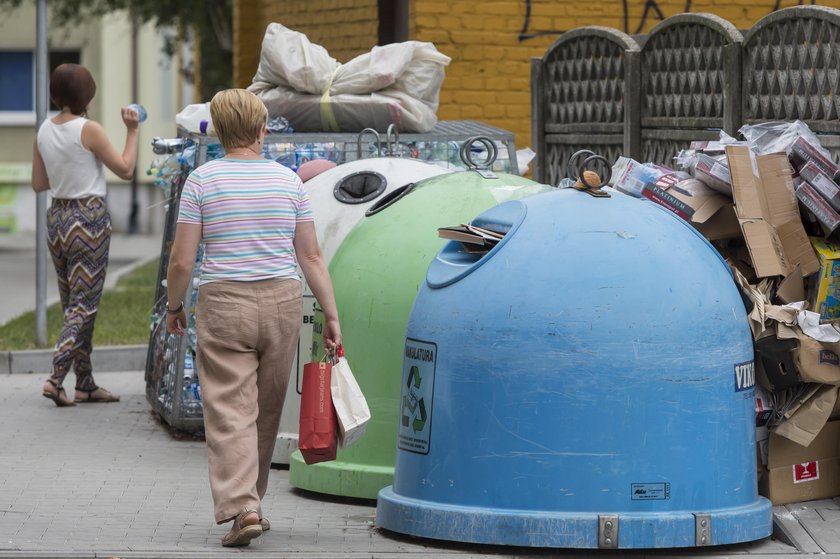
[[[338,436],[330,393],[331,369],[332,365],[323,361],[303,366],[298,448],[307,464],[335,460]]]

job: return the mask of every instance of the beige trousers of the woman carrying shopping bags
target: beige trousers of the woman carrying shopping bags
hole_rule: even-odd
[[[202,285],[198,376],[216,522],[260,511],[301,324],[295,279]]]

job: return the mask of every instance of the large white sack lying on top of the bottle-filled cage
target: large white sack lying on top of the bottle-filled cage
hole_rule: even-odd
[[[428,132],[437,122],[444,67],[450,58],[432,43],[374,47],[340,64],[304,34],[271,23],[248,88],[298,132]]]

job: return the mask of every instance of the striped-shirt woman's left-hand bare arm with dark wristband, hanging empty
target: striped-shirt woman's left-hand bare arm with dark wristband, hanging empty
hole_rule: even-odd
[[[187,328],[187,314],[184,312],[184,294],[192,277],[195,255],[201,242],[201,225],[179,223],[175,229],[175,240],[169,255],[169,269],[166,271],[166,307],[180,309],[166,313],[166,331],[178,336]]]

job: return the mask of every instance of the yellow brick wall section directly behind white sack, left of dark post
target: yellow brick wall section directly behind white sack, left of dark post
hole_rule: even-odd
[[[234,83],[238,87],[251,83],[269,23],[280,23],[304,33],[339,62],[370,51],[376,46],[379,33],[376,4],[376,0],[235,0],[234,5],[240,6],[243,15],[253,18],[247,24],[237,23],[235,8],[235,28],[253,26],[254,31],[248,37],[243,36],[241,43],[234,37],[234,59],[240,62],[234,69]]]

